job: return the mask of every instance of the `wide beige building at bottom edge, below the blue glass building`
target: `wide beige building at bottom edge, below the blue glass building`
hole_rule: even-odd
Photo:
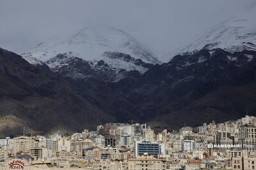
[[[156,159],[152,155],[145,154],[138,156],[136,159],[128,160],[129,170],[162,170],[164,169],[164,166],[165,164],[163,159]]]

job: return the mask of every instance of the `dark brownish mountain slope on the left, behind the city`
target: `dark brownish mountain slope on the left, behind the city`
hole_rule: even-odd
[[[122,101],[101,81],[79,84],[2,48],[0,87],[0,122],[5,122],[0,135],[22,134],[23,127],[44,132],[92,129],[116,121],[113,105],[104,108],[103,101],[110,98],[104,92]]]

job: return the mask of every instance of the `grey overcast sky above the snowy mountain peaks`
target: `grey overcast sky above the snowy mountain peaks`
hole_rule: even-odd
[[[255,0],[0,0],[0,47],[27,52],[51,36],[74,34],[82,27],[115,27],[161,59],[255,6]]]

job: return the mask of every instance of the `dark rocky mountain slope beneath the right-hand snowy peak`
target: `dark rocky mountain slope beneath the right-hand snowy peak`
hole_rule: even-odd
[[[255,114],[256,52],[203,49],[156,64],[136,80],[116,83],[140,120],[168,128]]]

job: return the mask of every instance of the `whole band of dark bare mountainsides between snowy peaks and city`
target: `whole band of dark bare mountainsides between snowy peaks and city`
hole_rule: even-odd
[[[256,111],[254,51],[230,53],[217,48],[177,55],[144,74],[128,71],[119,81],[100,80],[98,75],[69,78],[63,76],[65,67],[56,73],[3,49],[0,59],[0,121],[10,122],[1,127],[2,134],[20,132],[22,125],[45,132],[81,131],[131,119],[155,129],[175,129],[184,122],[223,122],[243,116],[246,110]],[[97,74],[88,62],[81,71]]]

